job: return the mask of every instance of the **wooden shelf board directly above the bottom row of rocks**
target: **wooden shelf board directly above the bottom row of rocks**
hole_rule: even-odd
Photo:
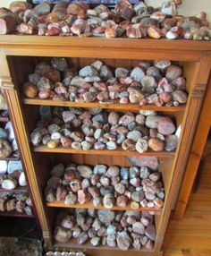
[[[46,206],[47,207],[59,207],[59,208],[73,208],[73,209],[108,209],[105,208],[104,206],[97,206],[94,207],[93,204],[91,202],[87,202],[84,204],[74,204],[74,205],[67,205],[64,204],[64,201],[51,201],[51,202],[46,202]],[[131,209],[130,205],[128,205],[127,207],[124,208],[119,208],[117,206],[113,207],[113,208],[109,208],[112,210],[135,210],[135,211],[156,211],[156,212],[161,212],[162,209],[156,209],[156,208],[139,208],[139,209]]]

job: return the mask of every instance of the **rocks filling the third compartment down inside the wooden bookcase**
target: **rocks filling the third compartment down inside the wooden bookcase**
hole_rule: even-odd
[[[51,170],[46,185],[46,201],[64,201],[66,205],[92,201],[94,207],[117,206],[131,209],[163,207],[165,189],[160,172],[147,166],[105,166],[58,164]]]

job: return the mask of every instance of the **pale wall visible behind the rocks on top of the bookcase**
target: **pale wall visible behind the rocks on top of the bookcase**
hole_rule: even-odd
[[[8,7],[13,0],[0,0],[1,7]],[[160,6],[165,0],[145,0],[152,6]],[[198,15],[200,11],[207,12],[208,20],[211,21],[211,0],[183,0],[179,14],[184,16]]]

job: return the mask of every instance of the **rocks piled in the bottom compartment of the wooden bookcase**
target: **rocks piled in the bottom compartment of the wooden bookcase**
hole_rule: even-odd
[[[55,241],[78,244],[118,246],[122,251],[142,247],[153,250],[156,227],[153,213],[113,211],[108,209],[74,209],[61,212],[55,223]]]

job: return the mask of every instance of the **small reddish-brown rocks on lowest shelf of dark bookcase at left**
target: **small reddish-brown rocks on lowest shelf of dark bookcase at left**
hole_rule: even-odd
[[[28,192],[0,192],[0,211],[13,211],[32,215]]]

